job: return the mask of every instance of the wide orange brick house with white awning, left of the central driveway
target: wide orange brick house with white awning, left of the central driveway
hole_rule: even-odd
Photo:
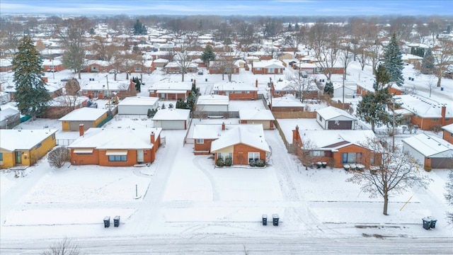
[[[90,128],[69,149],[71,164],[134,166],[151,164],[161,142],[161,128]]]

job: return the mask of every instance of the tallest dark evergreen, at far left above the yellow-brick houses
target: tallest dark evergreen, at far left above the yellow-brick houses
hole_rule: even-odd
[[[45,111],[51,98],[41,78],[43,69],[40,53],[29,36],[19,40],[12,64],[18,110],[23,115],[35,118]]]

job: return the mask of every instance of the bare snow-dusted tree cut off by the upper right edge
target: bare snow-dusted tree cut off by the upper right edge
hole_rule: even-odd
[[[439,50],[433,50],[432,56],[435,60],[435,74],[437,76],[437,86],[440,87],[442,77],[448,72],[453,63],[453,41],[447,38],[440,38]]]

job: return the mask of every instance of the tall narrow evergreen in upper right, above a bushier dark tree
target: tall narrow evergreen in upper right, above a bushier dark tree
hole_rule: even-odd
[[[398,40],[396,40],[396,34],[391,36],[389,45],[386,47],[384,52],[384,67],[389,72],[391,82],[398,86],[402,86],[403,79],[403,68],[404,63],[401,59],[402,53],[398,46]]]

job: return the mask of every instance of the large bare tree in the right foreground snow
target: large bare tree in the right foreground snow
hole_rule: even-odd
[[[403,193],[413,186],[426,188],[432,181],[419,171],[415,159],[400,146],[393,150],[391,142],[368,138],[362,147],[369,149],[362,154],[362,159],[369,159],[377,168],[356,171],[346,181],[361,185],[361,190],[369,193],[370,198],[382,196],[384,215],[388,215],[390,193]]]

